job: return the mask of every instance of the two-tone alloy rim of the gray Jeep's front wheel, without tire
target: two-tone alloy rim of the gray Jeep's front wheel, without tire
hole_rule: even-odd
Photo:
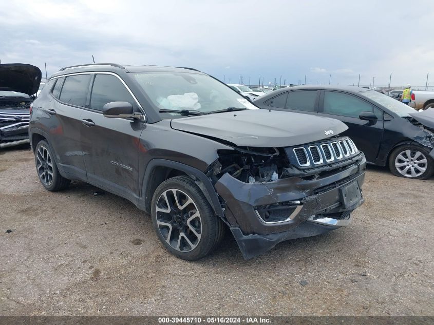
[[[182,190],[165,190],[157,200],[156,220],[164,240],[179,252],[190,252],[202,236],[202,219],[190,196]]]

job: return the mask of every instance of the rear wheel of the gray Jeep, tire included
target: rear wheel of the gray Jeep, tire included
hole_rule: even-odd
[[[47,140],[37,143],[34,154],[36,173],[42,185],[52,192],[67,188],[71,182],[60,175],[53,157],[53,151]]]

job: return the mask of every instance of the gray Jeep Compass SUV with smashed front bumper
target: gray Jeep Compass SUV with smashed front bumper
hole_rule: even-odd
[[[348,225],[366,160],[346,129],[258,109],[195,69],[92,64],[52,75],[29,136],[46,189],[78,179],[124,197],[169,252],[195,260],[228,227],[250,258]]]

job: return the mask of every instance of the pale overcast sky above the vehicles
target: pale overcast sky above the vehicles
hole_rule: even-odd
[[[95,61],[226,82],[434,85],[434,1],[2,0],[0,60],[48,75]]]

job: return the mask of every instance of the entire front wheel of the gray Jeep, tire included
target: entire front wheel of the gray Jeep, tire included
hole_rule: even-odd
[[[162,182],[151,203],[158,238],[176,257],[197,260],[210,254],[223,237],[224,224],[190,178],[177,176]]]

